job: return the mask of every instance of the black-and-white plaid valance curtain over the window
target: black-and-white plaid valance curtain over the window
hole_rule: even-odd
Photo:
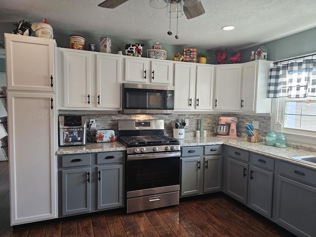
[[[316,59],[270,69],[268,98],[316,96]]]

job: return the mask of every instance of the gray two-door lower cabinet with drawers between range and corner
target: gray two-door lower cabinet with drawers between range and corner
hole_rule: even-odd
[[[221,153],[221,145],[182,148],[180,197],[221,190]]]

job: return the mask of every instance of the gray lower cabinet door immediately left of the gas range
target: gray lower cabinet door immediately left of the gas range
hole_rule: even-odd
[[[98,209],[123,206],[123,165],[98,167]]]

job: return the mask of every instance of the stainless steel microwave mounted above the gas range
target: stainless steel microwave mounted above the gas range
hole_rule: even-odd
[[[121,114],[172,114],[173,85],[123,83]]]

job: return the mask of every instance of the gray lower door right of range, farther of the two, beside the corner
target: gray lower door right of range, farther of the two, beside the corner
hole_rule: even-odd
[[[222,156],[204,157],[203,192],[221,190]]]

